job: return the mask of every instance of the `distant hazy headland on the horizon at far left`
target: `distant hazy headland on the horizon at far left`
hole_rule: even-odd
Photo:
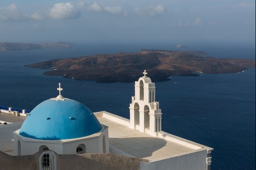
[[[18,51],[18,50],[34,50],[42,48],[72,48],[74,44],[66,42],[41,42],[38,44],[30,43],[13,43],[13,42],[0,42],[0,51]]]

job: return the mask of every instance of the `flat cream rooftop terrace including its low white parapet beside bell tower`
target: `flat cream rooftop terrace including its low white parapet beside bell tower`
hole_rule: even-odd
[[[178,155],[186,155],[201,151],[202,149],[207,149],[208,153],[211,153],[211,150],[213,150],[213,148],[163,131],[156,133],[157,137],[139,132],[139,130],[128,127],[129,119],[106,111],[96,112],[94,114],[100,123],[109,126],[109,144],[137,158],[154,161]]]

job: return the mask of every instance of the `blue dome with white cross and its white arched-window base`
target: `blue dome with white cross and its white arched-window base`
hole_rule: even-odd
[[[38,104],[14,132],[15,155],[32,155],[41,150],[57,154],[108,153],[108,126],[90,109],[59,95]]]

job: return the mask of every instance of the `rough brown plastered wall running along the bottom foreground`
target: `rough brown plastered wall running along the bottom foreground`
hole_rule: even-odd
[[[0,170],[39,170],[42,153],[10,156],[0,152]],[[139,170],[140,162],[148,162],[146,159],[106,153],[55,155],[56,170]]]

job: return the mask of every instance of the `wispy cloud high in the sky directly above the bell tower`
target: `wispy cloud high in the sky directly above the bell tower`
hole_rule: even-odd
[[[145,15],[145,16],[156,16],[160,15],[165,11],[162,5],[148,5],[145,7],[135,7],[134,14],[137,15]]]

